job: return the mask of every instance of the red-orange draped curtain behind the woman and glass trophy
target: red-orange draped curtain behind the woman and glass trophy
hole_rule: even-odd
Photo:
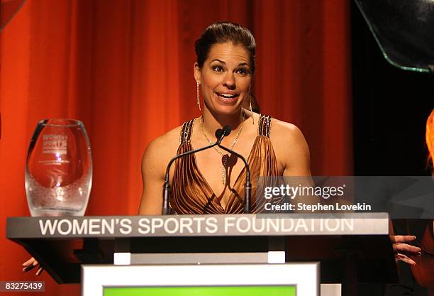
[[[0,38],[0,280],[35,279],[21,273],[28,255],[5,239],[5,224],[29,215],[24,168],[37,122],[87,127],[88,215],[136,214],[143,150],[199,115],[194,40],[221,20],[255,35],[262,113],[304,131],[313,175],[352,175],[347,0],[28,0]],[[38,279],[45,295],[79,295],[78,285]]]

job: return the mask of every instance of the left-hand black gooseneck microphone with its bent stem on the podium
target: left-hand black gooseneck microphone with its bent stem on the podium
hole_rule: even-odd
[[[223,138],[228,136],[228,134],[230,133],[230,126],[224,126],[223,128],[218,128],[218,130],[216,131],[216,138],[217,141],[216,143],[210,144],[208,146],[202,147],[202,148],[197,148],[194,150],[189,150],[187,152],[178,154],[176,156],[174,156],[174,158],[172,158],[169,161],[169,164],[167,165],[166,168],[166,175],[165,175],[165,183],[163,184],[163,194],[162,194],[162,199],[163,199],[163,203],[162,203],[162,214],[163,215],[167,215],[170,214],[169,212],[169,199],[170,199],[170,185],[169,185],[169,170],[170,167],[172,166],[172,163],[174,163],[175,160],[177,160],[178,158],[183,158],[184,156],[199,152],[201,150],[206,150],[208,148],[213,148],[214,146],[220,146],[221,141],[223,141]],[[250,176],[249,176],[250,177]],[[250,180],[250,179],[249,179]]]

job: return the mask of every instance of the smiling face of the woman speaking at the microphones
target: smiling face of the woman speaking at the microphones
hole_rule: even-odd
[[[231,42],[214,44],[204,66],[200,69],[194,64],[194,76],[201,84],[202,97],[210,111],[233,114],[249,96],[252,80],[249,52]]]

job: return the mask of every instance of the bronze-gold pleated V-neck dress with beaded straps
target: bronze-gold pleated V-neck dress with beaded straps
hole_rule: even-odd
[[[258,133],[255,138],[247,163],[250,165],[250,180],[252,182],[251,212],[260,212],[262,202],[257,202],[263,189],[257,188],[260,176],[277,176],[276,155],[269,133],[271,130],[271,116],[260,116]],[[193,150],[191,133],[194,119],[182,125],[180,145],[177,154]],[[216,194],[206,182],[196,164],[194,154],[180,158],[175,163],[172,180],[172,195],[170,207],[174,214],[240,214],[243,213],[245,168],[235,180],[230,196],[223,206]],[[262,186],[261,186],[262,187]],[[257,192],[258,190],[258,192]]]

